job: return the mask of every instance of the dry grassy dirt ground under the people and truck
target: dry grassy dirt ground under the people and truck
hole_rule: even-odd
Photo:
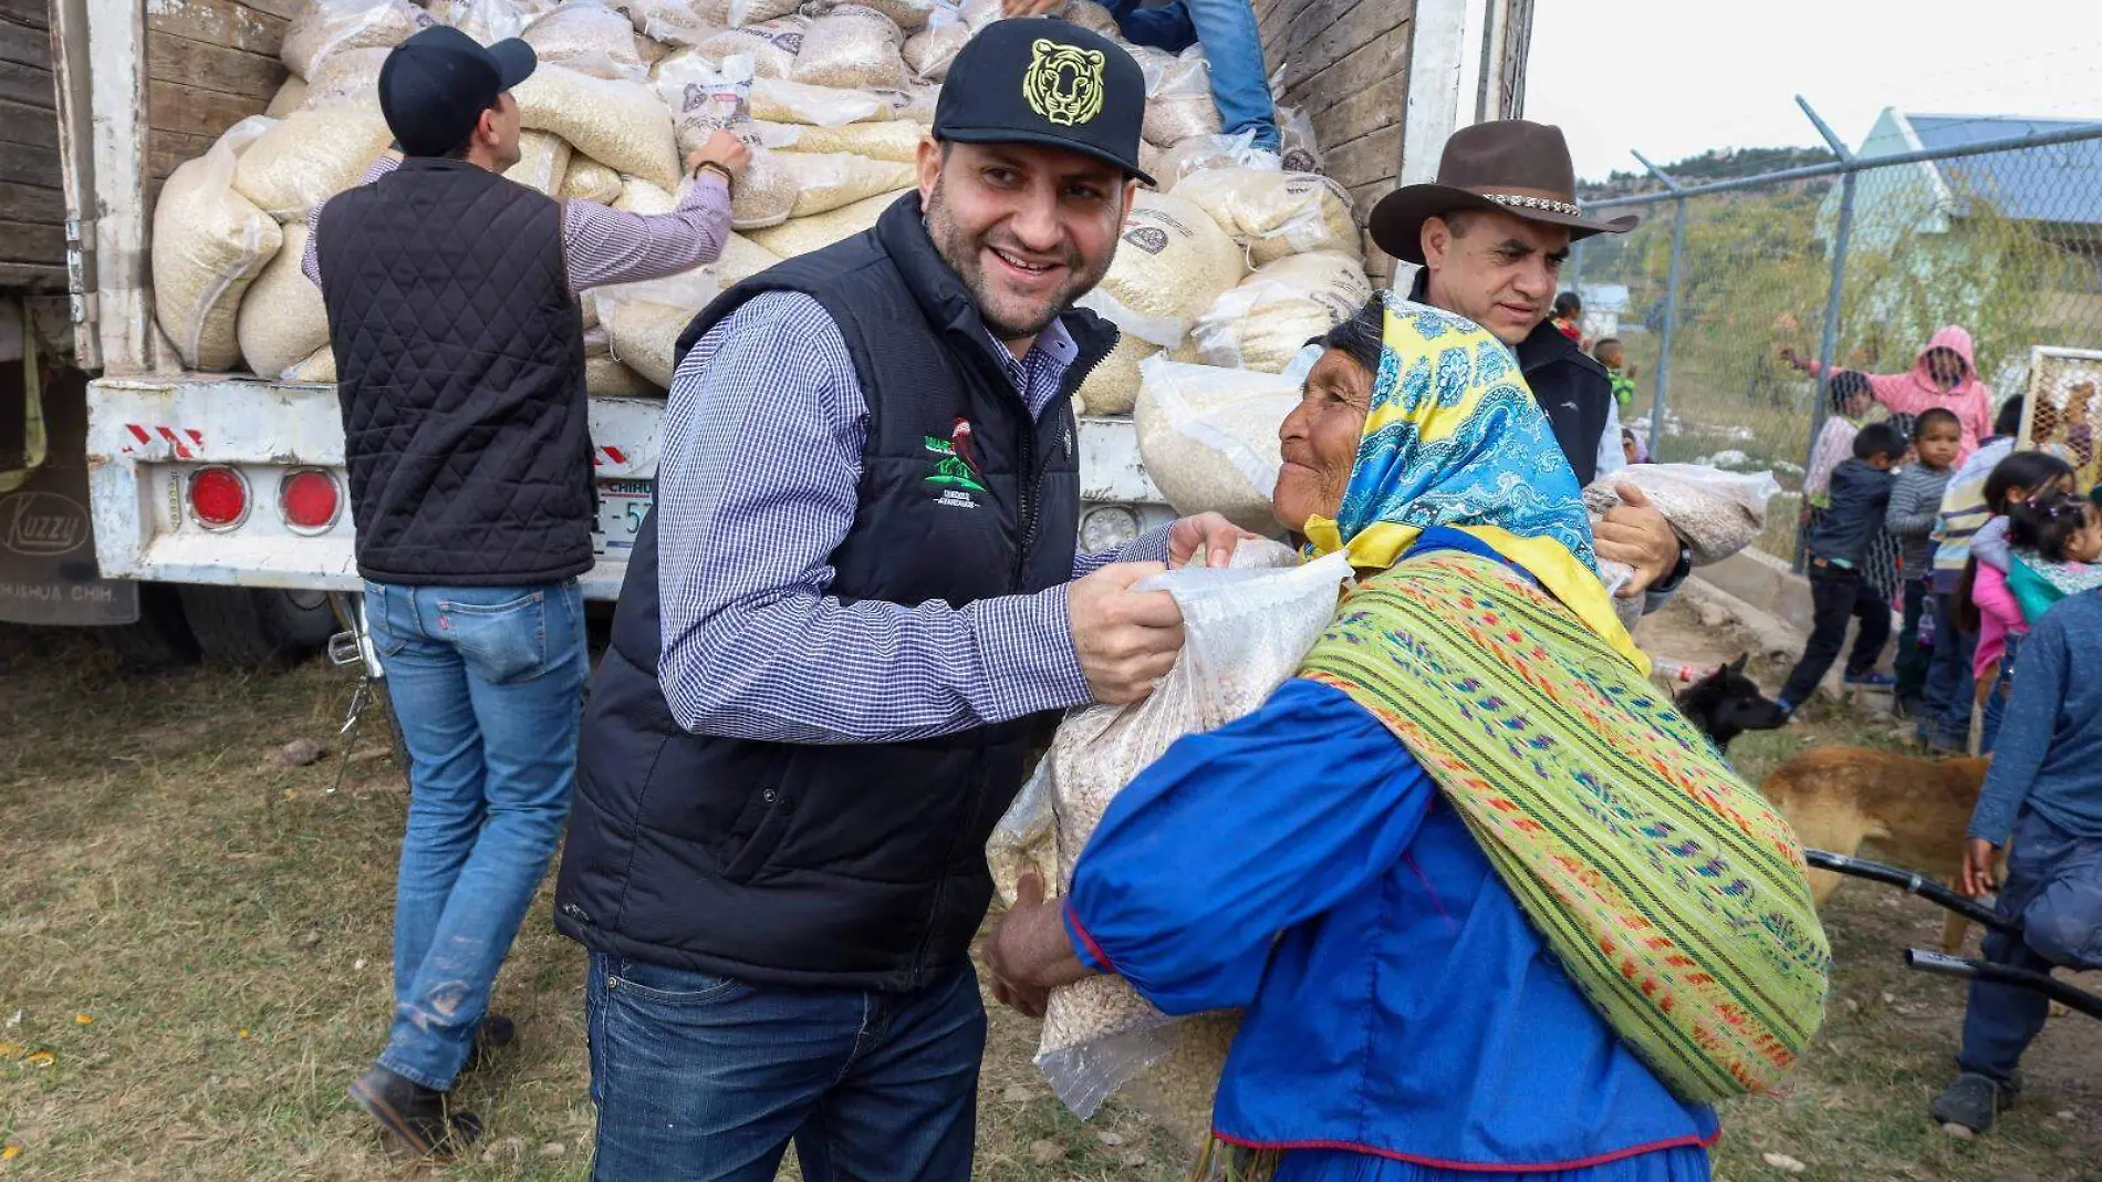
[[[1642,639],[1677,660],[1740,648],[1679,606]],[[84,637],[0,627],[0,1178],[586,1176],[582,953],[555,936],[547,890],[496,991],[521,1045],[458,1094],[483,1144],[410,1163],[343,1094],[385,1037],[408,799],[376,726],[330,791],[349,690],[320,663],[128,673]],[[296,738],[328,755],[288,766]],[[1896,738],[1835,709],[1740,738],[1732,757],[1757,780],[1816,742]],[[2052,1020],[2022,1104],[1991,1138],[1953,1140],[1925,1104],[1951,1071],[1963,986],[1898,961],[1936,940],[1940,913],[1850,883],[1827,925],[1825,1031],[1785,1096],[1726,1104],[1719,1178],[2102,1178],[2102,1024]],[[1181,1176],[1177,1146],[1129,1108],[1068,1115],[1032,1049],[1034,1026],[996,1012],[980,1178]]]

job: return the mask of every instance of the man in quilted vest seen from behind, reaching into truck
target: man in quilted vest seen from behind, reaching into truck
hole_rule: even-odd
[[[511,86],[534,50],[450,27],[401,42],[378,97],[406,160],[309,221],[343,402],[357,570],[410,753],[395,879],[393,1028],[351,1096],[418,1153],[471,1142],[446,1092],[488,1014],[570,810],[591,568],[591,437],[576,292],[715,259],[744,147],[696,154],[679,210],[555,202],[519,158]],[[727,141],[727,143],[725,143]]]

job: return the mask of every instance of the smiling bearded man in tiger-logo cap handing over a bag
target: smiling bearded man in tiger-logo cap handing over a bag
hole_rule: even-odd
[[[971,1176],[986,837],[1053,711],[1173,665],[1181,614],[1135,585],[1244,536],[1074,553],[1072,391],[1116,330],[1072,303],[1143,107],[1106,38],[998,21],[916,191],[681,337],[555,896],[595,1178],[769,1180],[790,1140],[805,1178]]]

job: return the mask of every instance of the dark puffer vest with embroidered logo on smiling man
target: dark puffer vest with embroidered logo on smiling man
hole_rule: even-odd
[[[1072,576],[1070,395],[1114,328],[1066,315],[1080,358],[1032,423],[921,229],[916,196],[877,229],[723,292],[681,355],[769,290],[826,307],[868,402],[860,507],[830,557],[832,595],[963,606]],[[959,423],[971,425],[969,458],[952,454]],[[584,711],[555,925],[620,957],[776,984],[906,991],[961,963],[992,896],[986,837],[1049,719],[914,742],[698,736],[664,705],[658,652],[652,515]]]

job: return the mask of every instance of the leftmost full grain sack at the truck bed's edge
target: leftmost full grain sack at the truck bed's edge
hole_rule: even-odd
[[[240,154],[273,124],[252,116],[227,128],[168,175],[153,206],[153,313],[187,368],[240,364],[242,292],[284,244],[277,223],[233,191]]]

